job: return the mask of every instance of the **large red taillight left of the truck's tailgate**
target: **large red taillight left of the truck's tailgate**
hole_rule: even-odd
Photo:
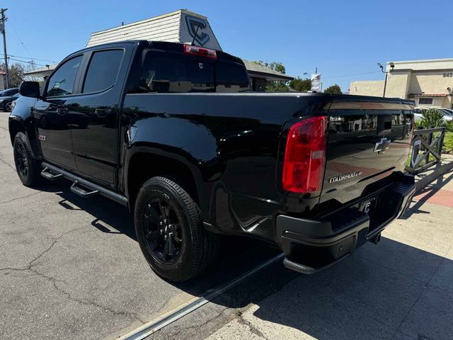
[[[282,179],[286,191],[321,191],[326,164],[327,122],[326,116],[313,117],[289,129]]]

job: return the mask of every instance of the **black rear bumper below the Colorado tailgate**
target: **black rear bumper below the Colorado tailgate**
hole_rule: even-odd
[[[285,253],[287,268],[301,273],[316,273],[345,259],[368,241],[377,242],[382,230],[400,217],[415,193],[413,176],[347,205],[319,220],[278,215],[275,237]],[[360,203],[376,199],[369,213]]]

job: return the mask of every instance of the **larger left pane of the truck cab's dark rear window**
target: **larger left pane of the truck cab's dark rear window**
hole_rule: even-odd
[[[214,92],[214,66],[185,57],[148,53],[139,92]]]

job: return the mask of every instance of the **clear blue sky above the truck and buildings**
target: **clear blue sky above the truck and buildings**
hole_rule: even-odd
[[[378,62],[453,57],[450,1],[8,0],[0,6],[8,8],[8,55],[42,65],[84,48],[92,32],[180,8],[207,16],[224,52],[282,62],[293,77],[317,68],[324,89],[338,84],[348,91],[352,80],[384,79]]]

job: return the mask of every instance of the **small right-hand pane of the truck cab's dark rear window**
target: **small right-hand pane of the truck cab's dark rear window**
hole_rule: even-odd
[[[222,62],[216,65],[217,92],[249,91],[248,74],[241,64]]]

